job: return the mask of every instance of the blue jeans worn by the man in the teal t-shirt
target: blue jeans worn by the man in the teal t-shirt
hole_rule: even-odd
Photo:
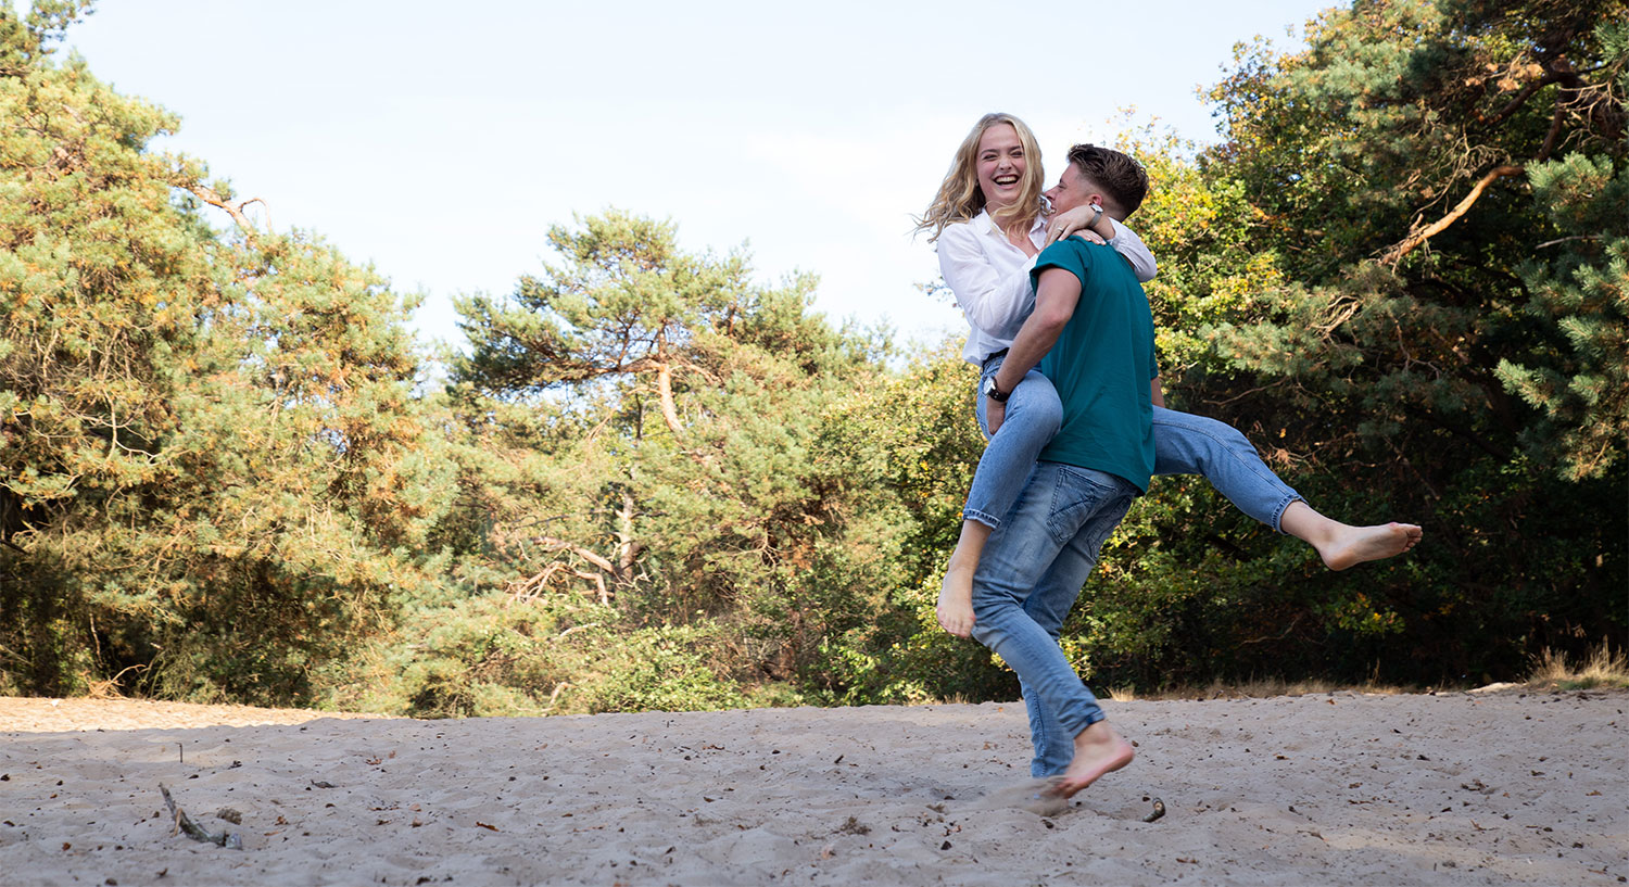
[[[1139,493],[1113,474],[1038,462],[973,576],[973,638],[1018,672],[1036,776],[1062,773],[1075,736],[1103,719],[1057,638],[1103,540]]]

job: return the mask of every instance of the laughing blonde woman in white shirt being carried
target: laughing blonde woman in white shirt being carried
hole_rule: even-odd
[[[930,231],[929,243],[937,243],[945,283],[973,327],[963,356],[982,368],[976,409],[981,428],[986,426],[986,397],[1005,397],[1005,420],[979,459],[963,509],[961,537],[938,596],[940,627],[963,638],[973,631],[973,575],[984,542],[1012,508],[1036,456],[1062,422],[1057,392],[1038,371],[1031,369],[1012,392],[987,391],[1007,347],[1034,308],[1030,285],[1034,257],[1054,239],[1082,231],[1126,256],[1139,280],[1152,280],[1155,273],[1153,256],[1142,239],[1116,225],[1101,207],[1082,207],[1049,220],[1041,199],[1043,179],[1041,153],[1030,127],[1008,114],[986,114],[956,150],[938,195],[917,225],[919,231]],[[1419,542],[1420,527],[1414,524],[1359,527],[1318,514],[1272,474],[1235,428],[1166,410],[1158,397],[1155,404],[1155,474],[1205,475],[1240,511],[1313,545],[1329,570],[1393,557]]]

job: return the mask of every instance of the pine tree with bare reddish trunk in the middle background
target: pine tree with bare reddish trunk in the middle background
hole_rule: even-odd
[[[617,643],[645,651],[629,675],[671,659],[642,631],[722,627],[705,669],[661,666],[696,682],[650,705],[714,705],[709,675],[826,680],[824,640],[875,623],[889,588],[891,532],[823,446],[875,384],[876,343],[810,314],[813,280],[759,286],[743,256],[684,252],[666,223],[609,212],[551,243],[564,267],[461,304],[453,397],[482,467],[458,519],[495,542],[463,570],[609,607],[632,631]],[[883,544],[849,544],[860,526]],[[643,698],[609,685],[593,705]]]

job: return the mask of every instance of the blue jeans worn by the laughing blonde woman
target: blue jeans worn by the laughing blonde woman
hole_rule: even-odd
[[[1000,366],[1002,358],[984,361],[982,376],[994,376]],[[982,395],[977,417],[989,435]],[[1062,420],[1064,405],[1052,381],[1034,369],[1026,373],[1007,399],[1007,418],[979,457],[961,519],[999,527]],[[1204,475],[1235,508],[1279,532],[1284,532],[1279,524],[1284,509],[1302,498],[1272,474],[1236,428],[1165,407],[1153,409],[1153,474]]]

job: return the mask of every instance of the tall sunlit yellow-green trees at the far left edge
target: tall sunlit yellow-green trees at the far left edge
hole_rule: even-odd
[[[301,701],[388,623],[446,480],[406,306],[301,234],[217,234],[174,120],[7,21],[0,106],[0,649],[94,682]]]

